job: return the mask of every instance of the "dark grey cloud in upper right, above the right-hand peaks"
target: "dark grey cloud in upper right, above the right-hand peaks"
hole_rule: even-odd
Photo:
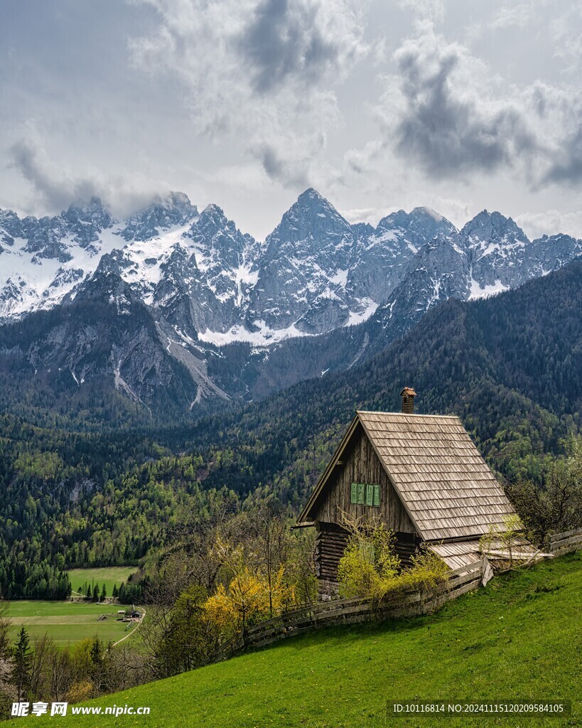
[[[479,79],[468,87],[461,47],[429,34],[407,41],[395,58],[404,99],[396,148],[429,175],[492,171],[539,149],[522,111],[482,100]]]

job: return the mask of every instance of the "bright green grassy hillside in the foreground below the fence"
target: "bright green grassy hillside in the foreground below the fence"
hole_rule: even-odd
[[[384,726],[386,701],[572,700],[570,719],[391,719],[402,727],[582,726],[582,555],[496,577],[428,617],[328,628],[90,705],[150,716],[68,716],[85,727]],[[87,705],[89,703],[84,703]],[[30,719],[30,724],[52,724]]]

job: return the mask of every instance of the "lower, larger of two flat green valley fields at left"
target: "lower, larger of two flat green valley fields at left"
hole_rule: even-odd
[[[11,601],[8,610],[12,621],[11,637],[15,640],[20,627],[24,626],[31,641],[46,633],[60,647],[95,635],[105,642],[115,642],[126,634],[128,624],[116,621],[118,609],[124,607],[91,602]],[[100,614],[107,614],[107,619],[97,622]]]

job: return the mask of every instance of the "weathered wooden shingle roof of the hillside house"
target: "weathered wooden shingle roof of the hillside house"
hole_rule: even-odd
[[[453,415],[356,413],[300,521],[309,515],[357,423],[424,541],[478,538],[514,513],[503,488]]]

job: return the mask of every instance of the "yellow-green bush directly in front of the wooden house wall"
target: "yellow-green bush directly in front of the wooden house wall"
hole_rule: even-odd
[[[447,565],[429,551],[413,557],[410,569],[399,571],[394,542],[383,524],[354,531],[339,563],[340,596],[380,601],[404,591],[434,590],[446,580]]]

